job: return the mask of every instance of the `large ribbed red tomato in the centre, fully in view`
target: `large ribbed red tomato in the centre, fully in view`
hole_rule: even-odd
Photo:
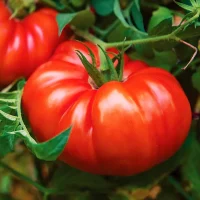
[[[87,45],[99,63],[98,49]],[[178,81],[163,69],[129,61],[122,82],[94,88],[76,49],[91,60],[82,43],[67,41],[25,85],[22,105],[37,140],[71,126],[59,159],[101,175],[137,174],[171,157],[191,125]]]

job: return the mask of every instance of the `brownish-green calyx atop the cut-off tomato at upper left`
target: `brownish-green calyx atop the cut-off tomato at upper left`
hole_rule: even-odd
[[[12,11],[10,19],[23,19],[25,16],[35,11],[35,4],[36,0],[8,0],[7,6]]]

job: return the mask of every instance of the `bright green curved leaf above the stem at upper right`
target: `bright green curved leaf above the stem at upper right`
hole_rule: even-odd
[[[153,15],[149,21],[148,32],[152,31],[154,27],[159,25],[165,19],[172,19],[173,14],[171,10],[165,7],[159,7],[156,11],[153,12]]]

